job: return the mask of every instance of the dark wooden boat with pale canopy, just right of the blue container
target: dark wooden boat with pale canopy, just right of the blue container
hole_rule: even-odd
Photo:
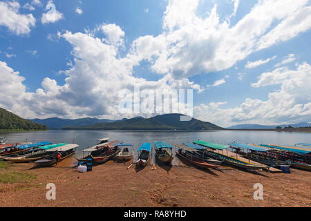
[[[86,162],[88,160],[88,157],[92,157],[94,164],[103,164],[113,159],[115,155],[117,155],[117,153],[121,151],[120,148],[117,148],[119,144],[122,144],[122,142],[115,140],[109,143],[86,148],[83,150],[83,152],[91,153],[86,157],[77,159],[77,161]]]

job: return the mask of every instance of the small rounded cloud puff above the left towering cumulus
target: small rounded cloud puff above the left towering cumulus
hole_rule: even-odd
[[[100,27],[100,30],[106,35],[106,40],[115,46],[124,44],[124,31],[115,23],[105,24]]]

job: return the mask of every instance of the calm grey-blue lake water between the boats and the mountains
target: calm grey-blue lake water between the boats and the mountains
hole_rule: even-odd
[[[299,142],[311,143],[311,133],[276,132],[276,131],[30,131],[30,132],[8,132],[0,133],[9,142],[23,142],[28,139],[30,142],[48,141],[55,143],[79,144],[76,156],[82,156],[82,150],[96,144],[102,137],[109,137],[111,141],[120,140],[130,143],[137,149],[144,142],[164,141],[168,144],[181,144],[204,140],[218,144],[229,144],[239,142],[243,144],[284,144],[294,145]],[[176,158],[176,157],[175,157]],[[175,160],[174,160],[175,161]],[[178,164],[175,161],[174,164]]]

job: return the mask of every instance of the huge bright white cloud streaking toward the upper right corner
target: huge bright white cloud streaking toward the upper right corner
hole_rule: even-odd
[[[220,21],[216,6],[207,17],[198,17],[198,3],[199,0],[169,1],[162,34],[134,41],[135,45],[139,41],[149,46],[158,44],[158,48],[148,52],[151,70],[171,73],[176,78],[225,70],[253,52],[287,41],[311,27],[306,13],[308,0],[258,1],[234,26]],[[138,56],[142,56],[139,51]]]

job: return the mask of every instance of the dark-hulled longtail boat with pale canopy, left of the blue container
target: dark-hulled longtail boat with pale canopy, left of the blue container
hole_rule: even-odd
[[[59,146],[55,148],[50,148],[47,152],[50,153],[47,157],[44,157],[42,160],[36,160],[34,163],[38,166],[52,166],[61,162],[62,160],[70,157],[75,154],[75,148],[77,148],[77,144],[66,144],[64,146]]]

